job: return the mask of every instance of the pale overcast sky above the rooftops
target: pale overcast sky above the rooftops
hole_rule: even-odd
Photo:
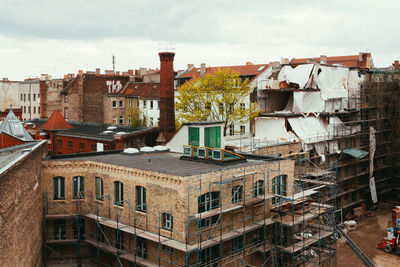
[[[166,43],[175,69],[366,51],[386,67],[400,57],[399,11],[398,0],[1,0],[0,78],[103,72],[113,54],[117,70],[156,68]]]

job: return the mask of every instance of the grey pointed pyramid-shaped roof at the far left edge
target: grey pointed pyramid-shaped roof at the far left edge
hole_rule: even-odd
[[[0,123],[0,134],[3,132],[22,141],[33,141],[32,136],[15,116],[12,109],[10,109],[4,121]]]

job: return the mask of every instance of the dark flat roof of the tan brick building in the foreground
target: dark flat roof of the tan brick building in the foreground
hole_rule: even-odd
[[[219,170],[228,170],[234,168],[244,168],[255,165],[266,164],[265,160],[248,159],[247,162],[231,163],[228,165],[219,165],[215,163],[205,163],[200,161],[180,160],[182,154],[172,152],[159,153],[140,153],[128,155],[126,153],[99,154],[90,156],[81,156],[79,154],[57,158],[53,156],[48,160],[55,161],[95,161],[117,166],[124,166],[134,169],[153,171],[176,176],[192,176],[200,173],[215,172]]]

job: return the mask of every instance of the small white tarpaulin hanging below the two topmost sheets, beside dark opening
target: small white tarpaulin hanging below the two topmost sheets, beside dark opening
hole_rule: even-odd
[[[325,101],[320,92],[293,92],[293,112],[323,112]]]

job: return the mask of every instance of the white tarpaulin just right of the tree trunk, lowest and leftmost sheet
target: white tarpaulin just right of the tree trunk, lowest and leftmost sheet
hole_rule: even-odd
[[[257,117],[254,139],[265,141],[297,142],[298,138],[285,127],[284,118]]]

